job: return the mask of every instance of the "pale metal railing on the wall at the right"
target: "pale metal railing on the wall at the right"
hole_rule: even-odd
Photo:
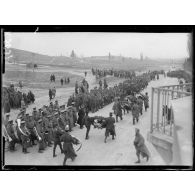
[[[192,95],[192,83],[152,88],[150,133],[173,135],[173,110],[170,101]]]

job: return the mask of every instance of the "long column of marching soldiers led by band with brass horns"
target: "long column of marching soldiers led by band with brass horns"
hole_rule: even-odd
[[[56,146],[59,145],[61,153],[66,154],[64,163],[67,158],[74,160],[76,153],[72,147],[72,144],[78,144],[78,139],[72,137],[68,132],[73,130],[76,123],[80,125],[82,129],[85,125],[87,128],[86,139],[89,138],[90,126],[94,124],[95,119],[98,117],[89,117],[88,112],[95,112],[103,106],[111,103],[115,100],[113,110],[116,115],[116,121],[118,117],[122,119],[122,110],[125,112],[132,111],[133,124],[135,120],[138,122],[139,114],[142,114],[143,101],[145,109],[148,108],[148,96],[140,95],[138,98],[135,94],[138,94],[141,90],[147,87],[148,82],[151,80],[151,73],[144,73],[141,76],[134,76],[130,80],[126,80],[119,85],[108,88],[108,86],[99,89],[95,88],[90,93],[81,90],[78,94],[69,98],[67,108],[65,105],[59,106],[58,101],[55,104],[50,102],[50,105],[44,105],[38,110],[33,108],[32,114],[26,113],[26,108],[20,110],[17,116],[16,126],[13,124],[13,120],[9,120],[9,113],[6,114],[4,121],[4,137],[9,142],[9,149],[15,150],[15,144],[22,144],[22,151],[24,154],[28,153],[27,148],[33,147],[38,144],[38,152],[42,153],[46,147],[53,145],[53,157],[56,156]],[[96,92],[96,93],[95,93]],[[102,93],[103,92],[103,93]],[[102,94],[103,96],[101,96]],[[100,95],[98,97],[98,95]],[[129,95],[129,96],[127,96]],[[86,99],[86,97],[90,97]],[[98,99],[99,98],[99,99]],[[97,100],[97,101],[96,101]],[[89,103],[90,102],[90,103]],[[78,115],[78,117],[77,117]],[[20,124],[18,119],[20,120]],[[102,126],[106,128],[105,143],[109,134],[114,139],[114,123],[115,119],[110,113],[110,117],[103,120]],[[63,147],[61,142],[64,143]]]

